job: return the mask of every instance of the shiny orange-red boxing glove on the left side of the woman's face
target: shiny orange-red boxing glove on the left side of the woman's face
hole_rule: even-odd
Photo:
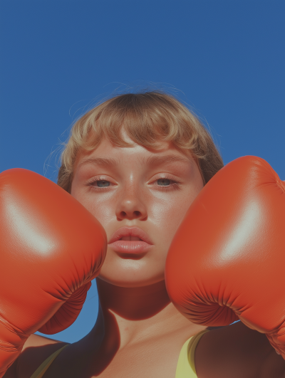
[[[106,251],[103,227],[39,174],[0,174],[0,377],[27,337],[56,333],[81,311]]]

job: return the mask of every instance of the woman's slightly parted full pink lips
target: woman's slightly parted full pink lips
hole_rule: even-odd
[[[108,245],[120,253],[146,253],[153,245],[145,231],[138,227],[121,227],[110,238]]]

